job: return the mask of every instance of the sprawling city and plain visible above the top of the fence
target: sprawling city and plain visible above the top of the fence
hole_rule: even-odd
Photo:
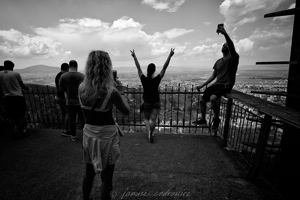
[[[28,71],[24,71],[25,73],[22,73],[22,70],[18,69],[16,69],[16,71],[19,71],[25,84],[32,83],[38,85],[55,86],[55,76],[59,72],[59,68],[53,68],[56,68],[55,70],[58,71],[33,71],[33,73],[29,73]],[[158,74],[160,69],[161,67],[157,67],[155,74]],[[128,85],[128,88],[135,88],[137,90],[139,90],[140,87],[142,88],[135,67],[115,67],[114,70],[117,70],[117,76],[123,83],[123,86]],[[146,67],[142,67],[142,70],[144,74],[147,73]],[[79,72],[84,73],[80,70]],[[197,85],[204,83],[212,75],[212,72],[212,67],[169,67],[161,81],[160,89],[161,91],[164,91],[164,89],[167,87],[172,90],[173,87],[173,91],[178,91],[180,84],[181,92],[184,92],[185,89],[187,91],[191,91],[192,87],[195,88]],[[288,65],[239,66],[233,89],[284,106],[285,97],[276,95],[252,94],[250,91],[286,92],[287,77]],[[203,88],[202,91],[204,89],[205,88]]]

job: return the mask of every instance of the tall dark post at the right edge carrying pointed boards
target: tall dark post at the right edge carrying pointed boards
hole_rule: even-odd
[[[296,0],[296,9],[300,8],[300,0]],[[300,61],[300,13],[295,12],[292,34],[290,61]],[[289,76],[287,82],[287,94],[300,94],[300,64],[289,64]],[[287,96],[285,106],[300,111],[300,98]],[[299,162],[297,153],[299,146],[299,129],[284,129],[280,141],[279,169],[277,191],[286,199],[297,198],[299,188],[299,170],[295,166]],[[299,151],[298,151],[299,152]]]

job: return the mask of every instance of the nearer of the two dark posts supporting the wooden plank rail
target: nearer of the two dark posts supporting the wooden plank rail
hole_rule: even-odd
[[[247,180],[256,182],[258,172],[262,165],[265,145],[267,143],[270,129],[271,129],[271,120],[272,120],[272,116],[265,114],[265,118],[262,121],[262,126],[259,131],[257,147],[256,147],[254,159],[253,159],[252,168],[250,169],[250,171],[248,172],[248,174],[246,176]]]

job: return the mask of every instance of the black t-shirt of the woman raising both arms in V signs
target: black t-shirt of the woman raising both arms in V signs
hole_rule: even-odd
[[[143,99],[147,103],[158,103],[160,101],[158,86],[161,83],[161,75],[155,76],[153,79],[148,79],[144,74],[141,76],[143,85]]]

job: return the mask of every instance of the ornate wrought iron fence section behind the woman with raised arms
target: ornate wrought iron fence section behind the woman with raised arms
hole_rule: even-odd
[[[39,88],[40,87],[40,88]],[[144,114],[140,113],[140,105],[143,103],[143,88],[131,88],[127,85],[124,87],[125,97],[128,99],[130,114],[123,115],[116,107],[113,108],[113,118],[122,127],[123,131],[129,132],[146,132],[144,124]],[[178,84],[175,88],[165,85],[159,88],[161,98],[161,110],[157,117],[156,132],[159,133],[191,133],[191,134],[208,134],[211,127],[211,107],[208,106],[206,118],[209,122],[207,127],[195,126],[191,121],[200,117],[199,99],[202,92]],[[30,91],[23,93],[26,98],[27,110],[26,120],[27,127],[30,128],[54,128],[60,129],[60,108],[55,101],[56,91],[48,86],[36,86]],[[1,121],[4,110],[1,106]],[[79,129],[79,121],[77,120]]]

